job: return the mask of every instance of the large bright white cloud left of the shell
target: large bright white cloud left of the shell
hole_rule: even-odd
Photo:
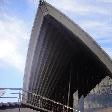
[[[25,22],[15,16],[0,19],[0,64],[7,63],[24,71],[29,34]]]

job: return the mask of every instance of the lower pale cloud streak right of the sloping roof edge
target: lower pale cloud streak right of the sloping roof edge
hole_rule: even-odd
[[[112,26],[109,23],[99,20],[84,20],[80,22],[80,26],[88,31],[98,34],[98,38],[110,38],[112,34]],[[112,39],[112,38],[110,38]]]

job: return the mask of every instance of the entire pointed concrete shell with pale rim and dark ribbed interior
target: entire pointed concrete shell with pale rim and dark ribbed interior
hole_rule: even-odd
[[[40,2],[29,42],[24,90],[64,105],[73,94],[85,97],[105,76],[112,61],[100,46],[63,13]]]

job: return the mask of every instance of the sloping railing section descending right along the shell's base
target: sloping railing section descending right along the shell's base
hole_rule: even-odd
[[[26,92],[26,91],[25,91]],[[25,99],[23,95],[23,100],[26,100],[26,103],[33,105],[39,109],[43,109],[48,112],[73,112],[75,109],[70,108],[66,105],[63,105],[59,102],[55,102],[48,98],[42,97],[32,92],[27,92],[28,98]]]

